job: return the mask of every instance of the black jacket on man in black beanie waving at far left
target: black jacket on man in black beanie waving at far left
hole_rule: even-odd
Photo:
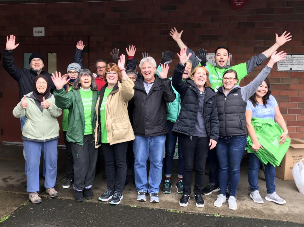
[[[19,100],[21,100],[23,95],[33,91],[33,81],[34,78],[38,75],[37,72],[26,68],[17,68],[14,63],[14,56],[12,51],[4,51],[3,68],[14,78],[14,80],[18,82]],[[53,94],[53,91],[56,89],[56,87],[52,81],[52,75],[45,72],[43,69],[40,74],[46,75],[49,79],[49,83],[51,85],[51,93]]]

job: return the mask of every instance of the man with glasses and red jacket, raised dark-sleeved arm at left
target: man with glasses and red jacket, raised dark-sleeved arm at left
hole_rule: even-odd
[[[82,52],[85,45],[83,44],[83,41],[79,40],[76,44],[75,54],[74,54],[74,62],[80,64],[81,69],[83,69],[82,65]],[[93,76],[95,77],[95,84],[98,87],[98,90],[100,90],[103,85],[106,84],[106,82],[103,79],[103,72],[105,71],[105,67],[107,66],[106,61],[99,59],[95,63],[96,67],[96,74],[93,73]]]

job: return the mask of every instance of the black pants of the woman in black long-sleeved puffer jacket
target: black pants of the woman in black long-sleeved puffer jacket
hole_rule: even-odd
[[[209,150],[208,137],[186,136],[180,134],[178,137],[181,140],[181,152],[183,153],[184,168],[183,168],[183,192],[185,195],[191,193],[192,170],[195,166],[195,184],[194,194],[202,194],[205,176],[205,164]]]

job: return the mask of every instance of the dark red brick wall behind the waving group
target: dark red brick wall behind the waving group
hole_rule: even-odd
[[[33,27],[40,26],[45,27],[47,37],[33,38],[34,41],[64,41],[73,35],[76,41],[88,36],[85,45],[89,47],[91,69],[98,58],[110,61],[109,52],[114,47],[125,52],[126,46],[135,44],[138,61],[142,51],[149,52],[157,61],[164,50],[177,52],[177,44],[169,36],[172,27],[184,30],[182,39],[194,50],[203,47],[211,53],[219,45],[228,46],[232,64],[261,53],[274,44],[275,33],[282,34],[285,30],[292,33],[293,39],[279,51],[304,53],[304,1],[250,0],[242,10],[233,10],[229,0],[28,3],[0,5],[2,41],[11,33],[17,37],[32,36]],[[175,59],[173,63],[177,62]],[[261,69],[262,66],[257,67],[242,84],[250,82]],[[276,65],[270,75],[272,94],[287,122],[290,137],[302,139],[303,75],[278,72]]]

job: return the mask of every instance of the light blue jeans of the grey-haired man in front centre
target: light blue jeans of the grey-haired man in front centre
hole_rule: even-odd
[[[163,156],[166,135],[143,137],[133,140],[135,184],[138,192],[159,192],[163,172]],[[149,182],[147,179],[147,160],[150,160]],[[148,187],[149,183],[149,187]]]

